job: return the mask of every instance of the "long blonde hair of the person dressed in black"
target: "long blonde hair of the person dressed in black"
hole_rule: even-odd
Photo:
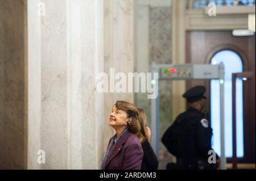
[[[148,134],[146,130],[146,113],[142,109],[139,110],[139,124],[141,125],[141,130],[137,133],[137,137],[139,138],[139,141],[144,142],[145,140],[148,140]]]

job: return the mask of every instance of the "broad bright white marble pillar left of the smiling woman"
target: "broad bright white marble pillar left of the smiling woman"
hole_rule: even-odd
[[[102,0],[28,0],[28,169],[100,167],[103,65]]]

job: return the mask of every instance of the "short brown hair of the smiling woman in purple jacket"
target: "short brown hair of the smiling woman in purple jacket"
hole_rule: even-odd
[[[138,121],[138,117],[139,117],[138,108],[134,106],[134,104],[121,101],[121,100],[118,100],[114,106],[117,107],[118,110],[125,111],[127,117],[131,118],[131,121],[127,123],[128,131],[134,134],[137,134],[141,129],[141,125],[139,124],[139,121]]]

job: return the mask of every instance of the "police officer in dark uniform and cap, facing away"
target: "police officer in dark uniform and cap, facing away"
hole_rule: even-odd
[[[162,142],[170,153],[177,158],[176,169],[216,169],[217,164],[209,163],[212,128],[210,128],[207,113],[203,113],[206,97],[204,86],[192,87],[183,94],[187,99],[188,109],[181,113],[174,124],[167,129]],[[216,153],[213,153],[216,154]],[[216,157],[212,155],[213,159]],[[174,163],[167,165],[167,169]],[[169,167],[169,168],[168,168]],[[172,167],[174,168],[174,167]]]

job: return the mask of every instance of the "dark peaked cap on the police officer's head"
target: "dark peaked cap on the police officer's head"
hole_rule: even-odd
[[[187,90],[183,94],[183,98],[186,98],[188,102],[196,102],[197,100],[206,99],[204,96],[206,89],[204,86],[195,86]]]

